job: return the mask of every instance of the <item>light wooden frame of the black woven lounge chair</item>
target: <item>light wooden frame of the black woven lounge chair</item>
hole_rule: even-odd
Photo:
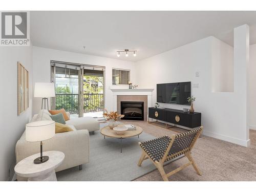
[[[203,126],[200,126],[200,128],[201,128],[201,130],[198,131],[197,135],[195,136],[195,138],[193,139],[193,141],[191,142],[191,144],[190,144],[190,146],[188,148],[185,148],[185,149],[181,150],[178,153],[175,153],[173,155],[168,156],[168,153],[169,153],[170,149],[172,148],[173,143],[174,143],[174,141],[176,139],[176,135],[175,134],[170,136],[170,138],[171,138],[170,143],[169,143],[169,145],[168,145],[168,147],[167,147],[167,149],[166,149],[162,159],[159,162],[158,161],[153,161],[151,159],[151,157],[142,148],[142,154],[140,156],[140,159],[139,159],[139,162],[138,162],[138,166],[141,166],[141,164],[142,164],[142,162],[144,160],[150,159],[153,162],[153,164],[157,167],[157,169],[159,170],[159,172],[160,172],[160,174],[161,174],[161,176],[162,176],[164,181],[169,181],[168,180],[169,176],[174,175],[175,173],[179,172],[180,170],[184,169],[185,167],[187,167],[189,165],[193,165],[193,167],[196,170],[197,174],[198,175],[202,175],[202,173],[201,173],[200,169],[198,168],[195,160],[191,156],[191,149],[194,147],[198,137],[201,135],[202,130],[203,130]],[[141,144],[141,142],[139,142],[139,145],[140,144]],[[187,151],[187,152],[183,153],[184,151]],[[182,166],[180,166],[180,167],[178,167],[178,168],[176,168],[172,172],[169,172],[169,173],[166,174],[165,171],[164,171],[164,168],[163,168],[163,164],[164,164],[165,160],[166,159],[172,159],[173,157],[178,157],[178,156],[180,156],[180,154],[184,154],[183,157],[187,157],[189,162],[184,164],[184,165],[182,165]]]

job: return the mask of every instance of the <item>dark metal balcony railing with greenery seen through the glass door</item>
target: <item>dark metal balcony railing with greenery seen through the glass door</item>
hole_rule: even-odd
[[[78,114],[78,94],[56,94],[56,110],[64,108],[70,114]],[[83,113],[103,111],[103,94],[83,94]]]

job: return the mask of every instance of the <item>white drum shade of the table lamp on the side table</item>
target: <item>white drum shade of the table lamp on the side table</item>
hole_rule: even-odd
[[[55,121],[34,121],[26,124],[26,140],[44,141],[55,135]]]

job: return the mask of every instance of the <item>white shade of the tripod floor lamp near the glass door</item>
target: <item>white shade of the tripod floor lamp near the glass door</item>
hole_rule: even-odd
[[[54,83],[36,82],[34,97],[55,97]]]

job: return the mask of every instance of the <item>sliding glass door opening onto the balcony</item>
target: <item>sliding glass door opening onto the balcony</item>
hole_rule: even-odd
[[[71,117],[102,117],[104,68],[51,61],[55,97],[52,109],[65,109]]]

